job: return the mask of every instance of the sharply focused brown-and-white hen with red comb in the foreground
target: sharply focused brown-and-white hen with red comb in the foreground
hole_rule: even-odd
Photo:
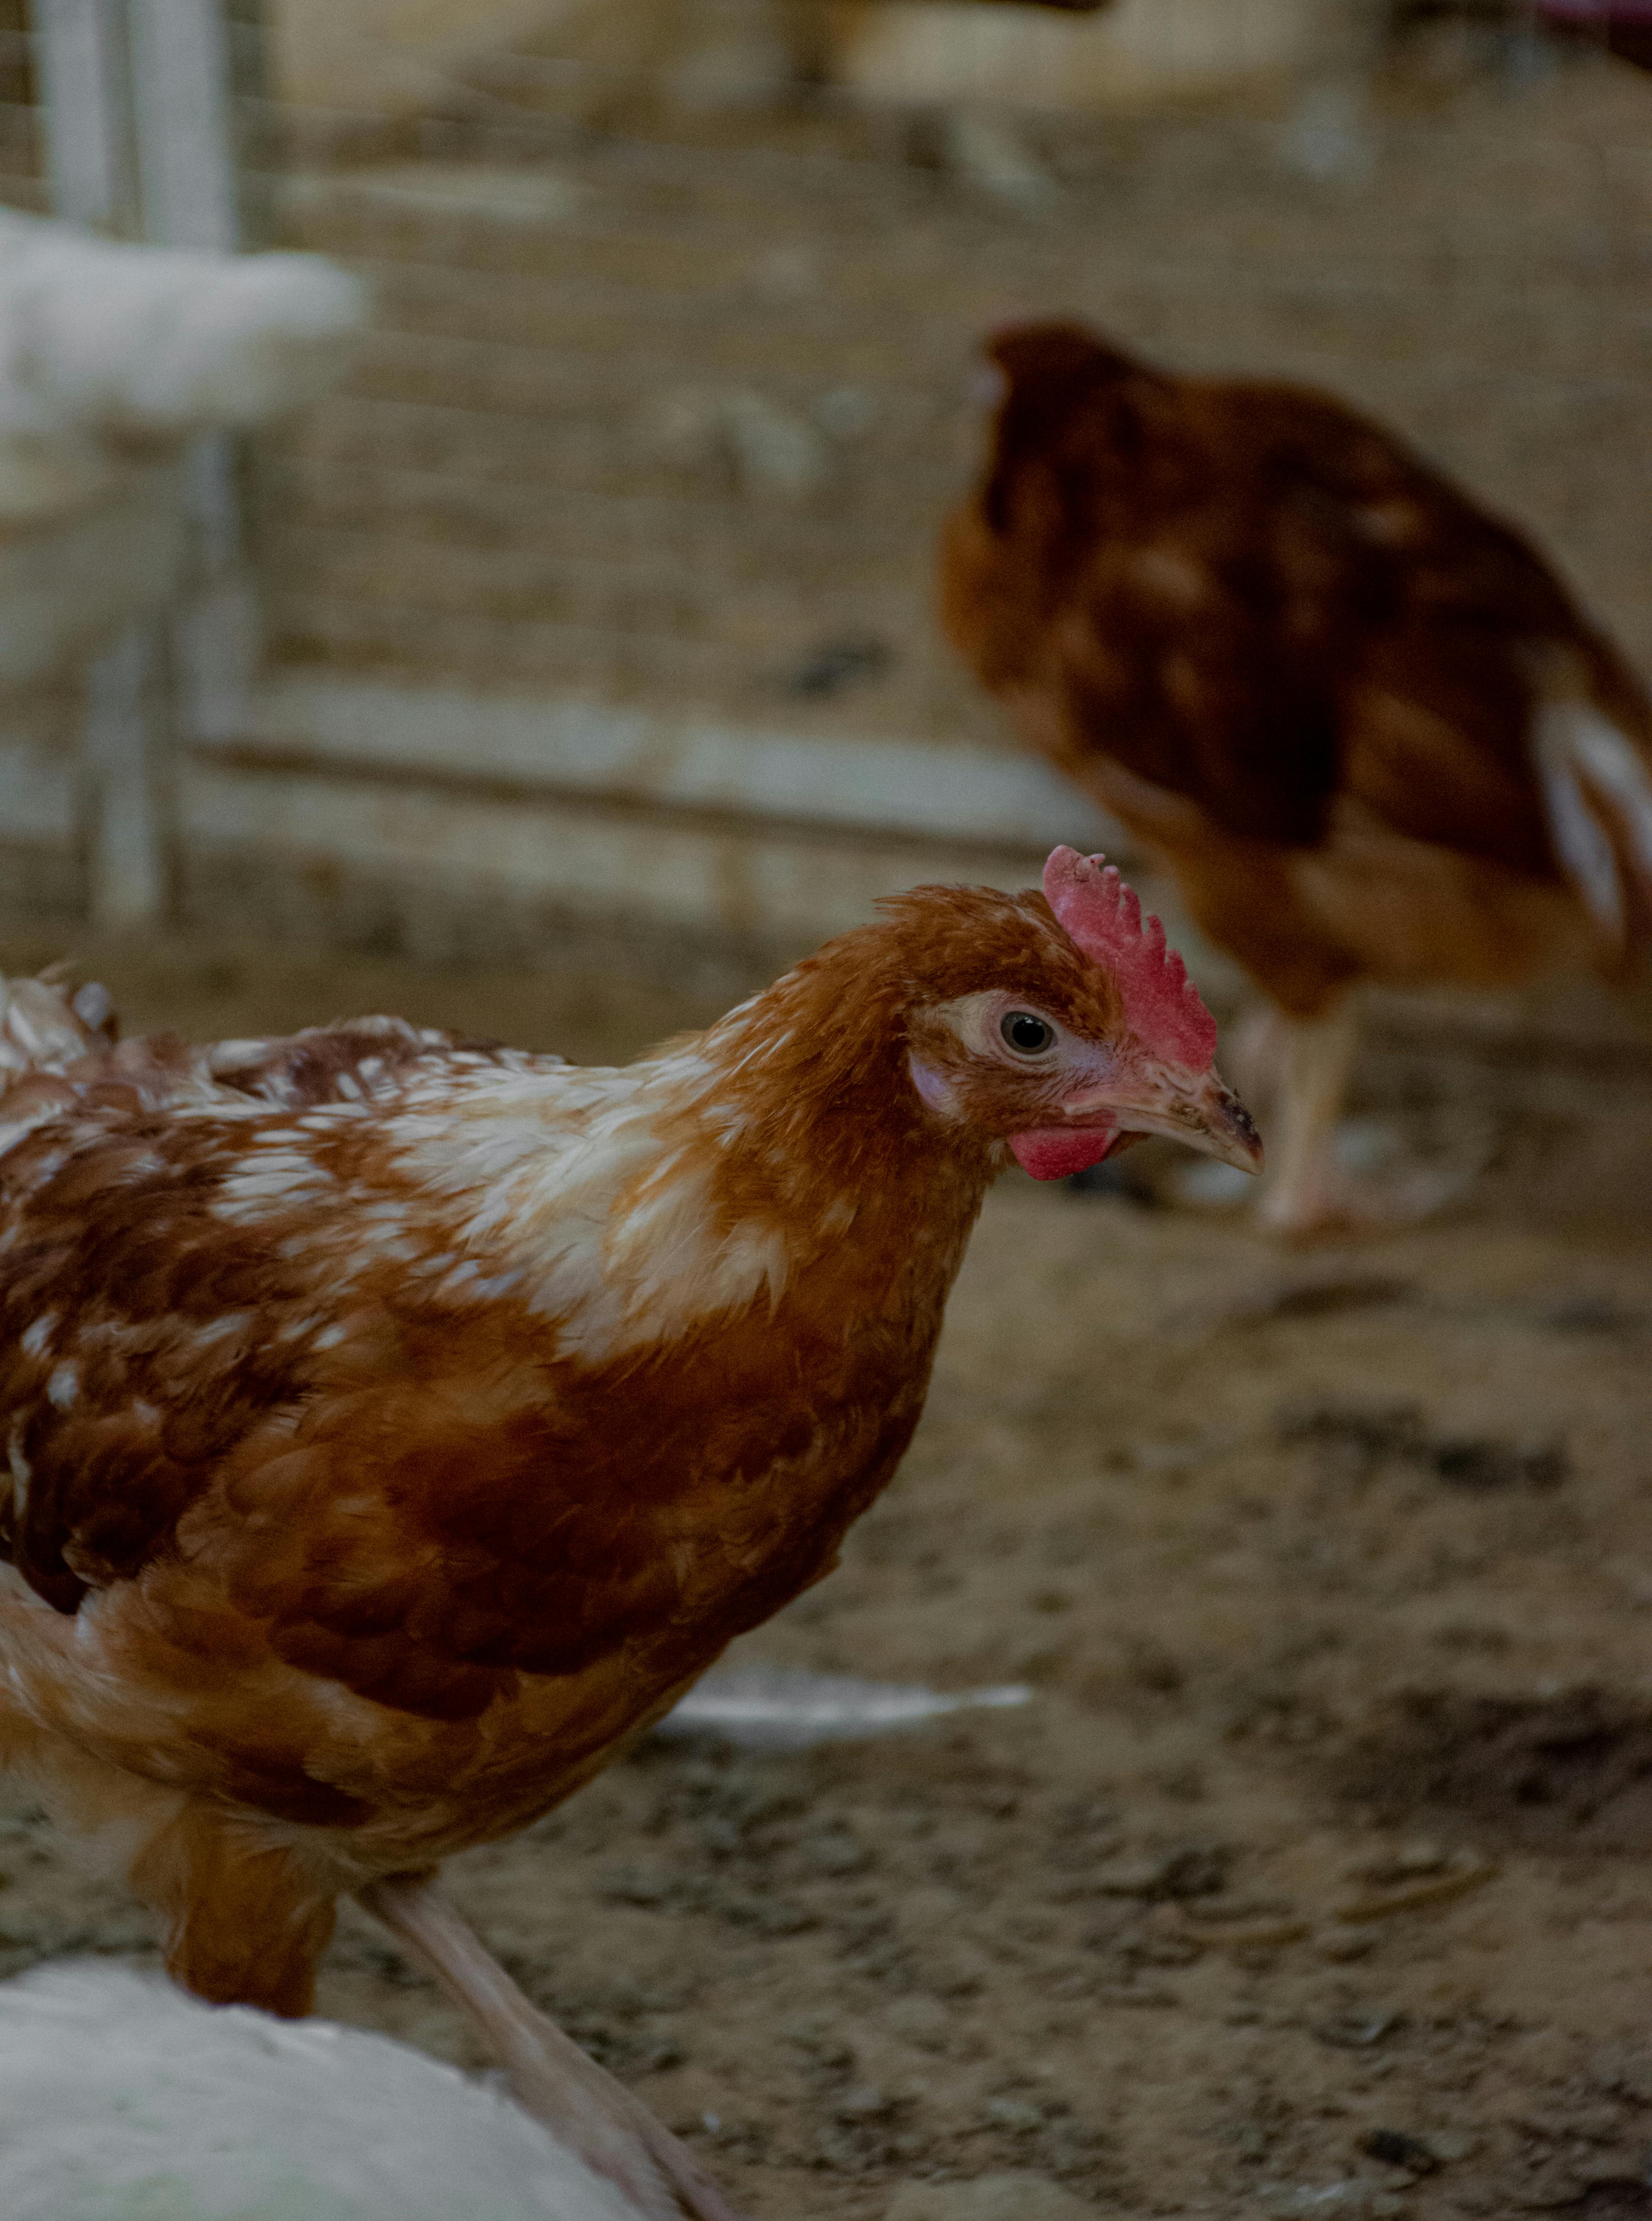
[[[653,2217],[691,2154],[429,1888],[830,1570],[1010,1155],[1235,1164],[1135,897],[919,888],[624,1071],[362,1019],[113,1046],[0,1002],[0,1757],[200,1997],[309,2010],[355,1890]],[[1055,904],[1055,908],[1052,908]]]

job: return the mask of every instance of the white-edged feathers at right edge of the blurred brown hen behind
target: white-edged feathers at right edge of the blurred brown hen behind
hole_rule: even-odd
[[[1614,955],[1652,919],[1652,766],[1592,702],[1543,702],[1532,728],[1561,868]]]

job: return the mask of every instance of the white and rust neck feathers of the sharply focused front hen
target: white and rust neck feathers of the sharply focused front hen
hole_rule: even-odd
[[[910,1084],[893,939],[848,935],[624,1071],[477,1073],[389,1122],[400,1170],[586,1361],[808,1282],[928,1310],[995,1162]]]

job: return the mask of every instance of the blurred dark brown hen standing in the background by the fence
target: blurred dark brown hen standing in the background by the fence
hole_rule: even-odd
[[[1077,324],[988,355],[946,629],[1268,997],[1263,1215],[1361,1215],[1332,1162],[1361,979],[1510,988],[1645,946],[1648,693],[1517,531],[1328,395]]]

